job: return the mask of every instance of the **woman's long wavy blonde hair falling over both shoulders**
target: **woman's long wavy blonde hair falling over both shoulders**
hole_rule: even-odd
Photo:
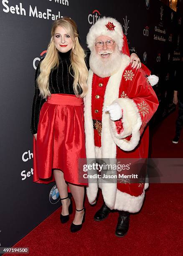
[[[51,40],[48,44],[48,49],[45,58],[41,61],[40,64],[40,74],[37,79],[38,87],[40,90],[40,94],[43,98],[47,96],[51,96],[49,91],[49,76],[51,69],[58,66],[58,50],[55,47],[53,37],[55,30],[58,26],[64,28],[73,41],[73,47],[71,50],[71,66],[69,67],[69,72],[71,68],[74,72],[74,93],[77,97],[84,97],[87,92],[86,79],[88,77],[88,69],[86,67],[84,58],[84,50],[79,44],[78,40],[78,31],[77,26],[74,20],[71,20],[68,17],[60,18],[55,20],[51,29]],[[71,72],[70,72],[71,74]],[[81,95],[79,95],[79,91],[82,89]]]

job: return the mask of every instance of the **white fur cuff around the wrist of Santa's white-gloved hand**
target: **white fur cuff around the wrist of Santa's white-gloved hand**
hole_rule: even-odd
[[[125,151],[131,151],[138,145],[140,140],[140,127],[142,125],[142,120],[139,110],[135,102],[128,98],[118,98],[112,102],[112,104],[114,103],[118,103],[123,110],[123,131],[118,134],[114,121],[110,120],[112,138],[119,148]],[[124,139],[131,134],[132,137],[130,141]]]

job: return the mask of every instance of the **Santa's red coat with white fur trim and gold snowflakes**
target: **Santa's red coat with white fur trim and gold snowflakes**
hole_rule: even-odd
[[[97,133],[93,128],[93,119],[102,115],[101,157],[146,158],[148,154],[148,121],[158,108],[158,99],[142,69],[132,69],[129,56],[123,54],[121,68],[109,78],[99,78],[89,71],[87,81],[89,90],[85,98],[85,134],[86,157],[96,157]],[[97,80],[98,79],[98,80]],[[101,80],[102,79],[102,80]],[[92,82],[93,81],[93,82]],[[94,97],[99,83],[104,84],[99,97]],[[106,86],[105,86],[106,83]],[[92,97],[91,97],[92,95]],[[98,95],[98,94],[97,94]],[[98,102],[97,102],[98,100]],[[102,107],[118,103],[123,112],[122,119],[114,122]],[[97,111],[96,110],[97,107]],[[96,113],[97,112],[97,113]],[[94,136],[95,134],[95,136]],[[111,209],[138,212],[145,196],[145,187],[139,184],[99,184],[106,205]],[[98,191],[97,183],[90,183],[86,188],[89,202],[92,204]]]

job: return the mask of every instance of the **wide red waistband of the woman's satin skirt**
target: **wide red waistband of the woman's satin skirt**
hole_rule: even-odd
[[[83,104],[83,99],[71,94],[52,94],[51,97],[47,97],[47,103],[55,105],[72,105],[80,106]]]

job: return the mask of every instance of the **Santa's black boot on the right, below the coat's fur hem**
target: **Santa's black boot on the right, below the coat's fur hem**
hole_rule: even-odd
[[[130,213],[125,211],[119,211],[119,218],[116,226],[115,235],[117,237],[123,237],[127,234],[130,223]]]

